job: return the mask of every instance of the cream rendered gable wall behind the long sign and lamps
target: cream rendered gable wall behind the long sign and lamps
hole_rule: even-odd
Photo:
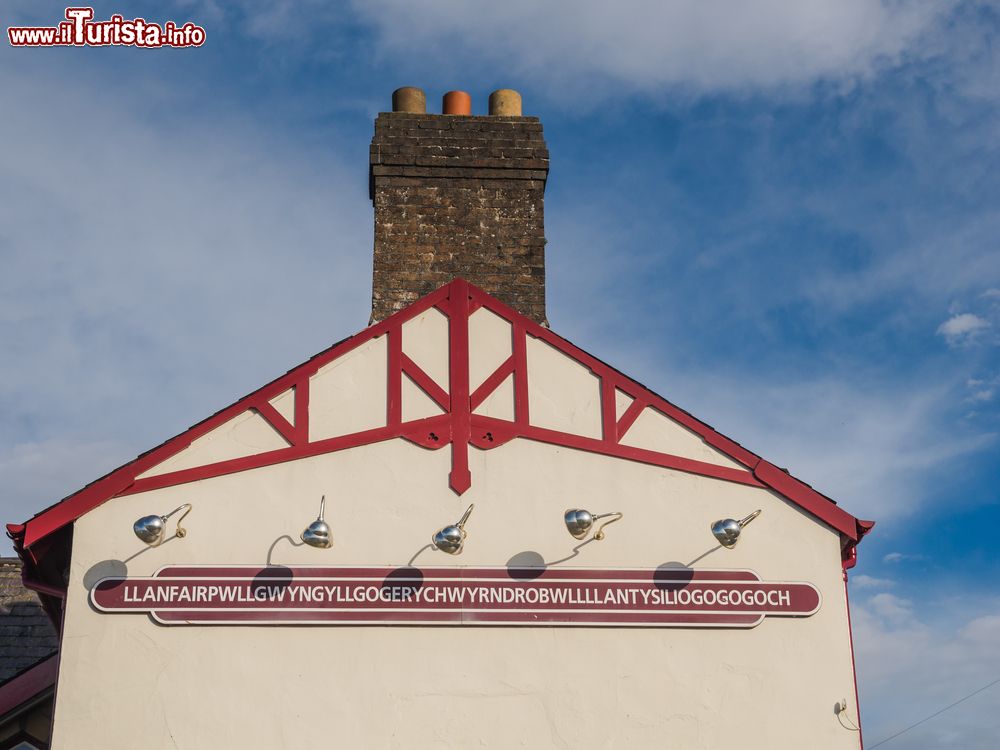
[[[509,329],[483,320],[482,358],[503,361]],[[411,344],[425,329],[440,341],[439,328],[430,322],[404,336],[404,351],[432,377],[447,372],[434,371],[440,344]],[[592,376],[566,376],[564,355],[537,343],[545,349],[529,351],[532,420],[590,435],[600,410]],[[383,337],[312,379],[314,439],[385,424],[386,357]],[[490,370],[483,365],[483,377]],[[572,413],[560,415],[563,407]],[[661,450],[692,439],[676,429]],[[656,430],[636,434],[663,440]],[[472,487],[461,497],[448,488],[450,447],[394,439],[121,497],[83,516],[54,750],[719,748],[734,737],[742,748],[858,747],[834,714],[836,701],[854,695],[837,533],[758,488],[525,439],[470,453]],[[334,547],[293,546],[323,494]],[[132,534],[138,517],[184,502],[194,504],[185,538],[146,549]],[[421,551],[470,502],[465,552]],[[569,507],[625,518],[604,541],[580,546],[562,523]],[[734,550],[715,544],[713,520],[756,508],[762,515]],[[823,602],[811,617],[771,617],[750,630],[685,630],[168,627],[102,614],[87,600],[88,586],[120,575],[123,561],[128,575],[148,576],[168,564],[395,567],[418,552],[417,566],[503,567],[537,555],[582,568],[749,568],[764,580],[810,582]]]

